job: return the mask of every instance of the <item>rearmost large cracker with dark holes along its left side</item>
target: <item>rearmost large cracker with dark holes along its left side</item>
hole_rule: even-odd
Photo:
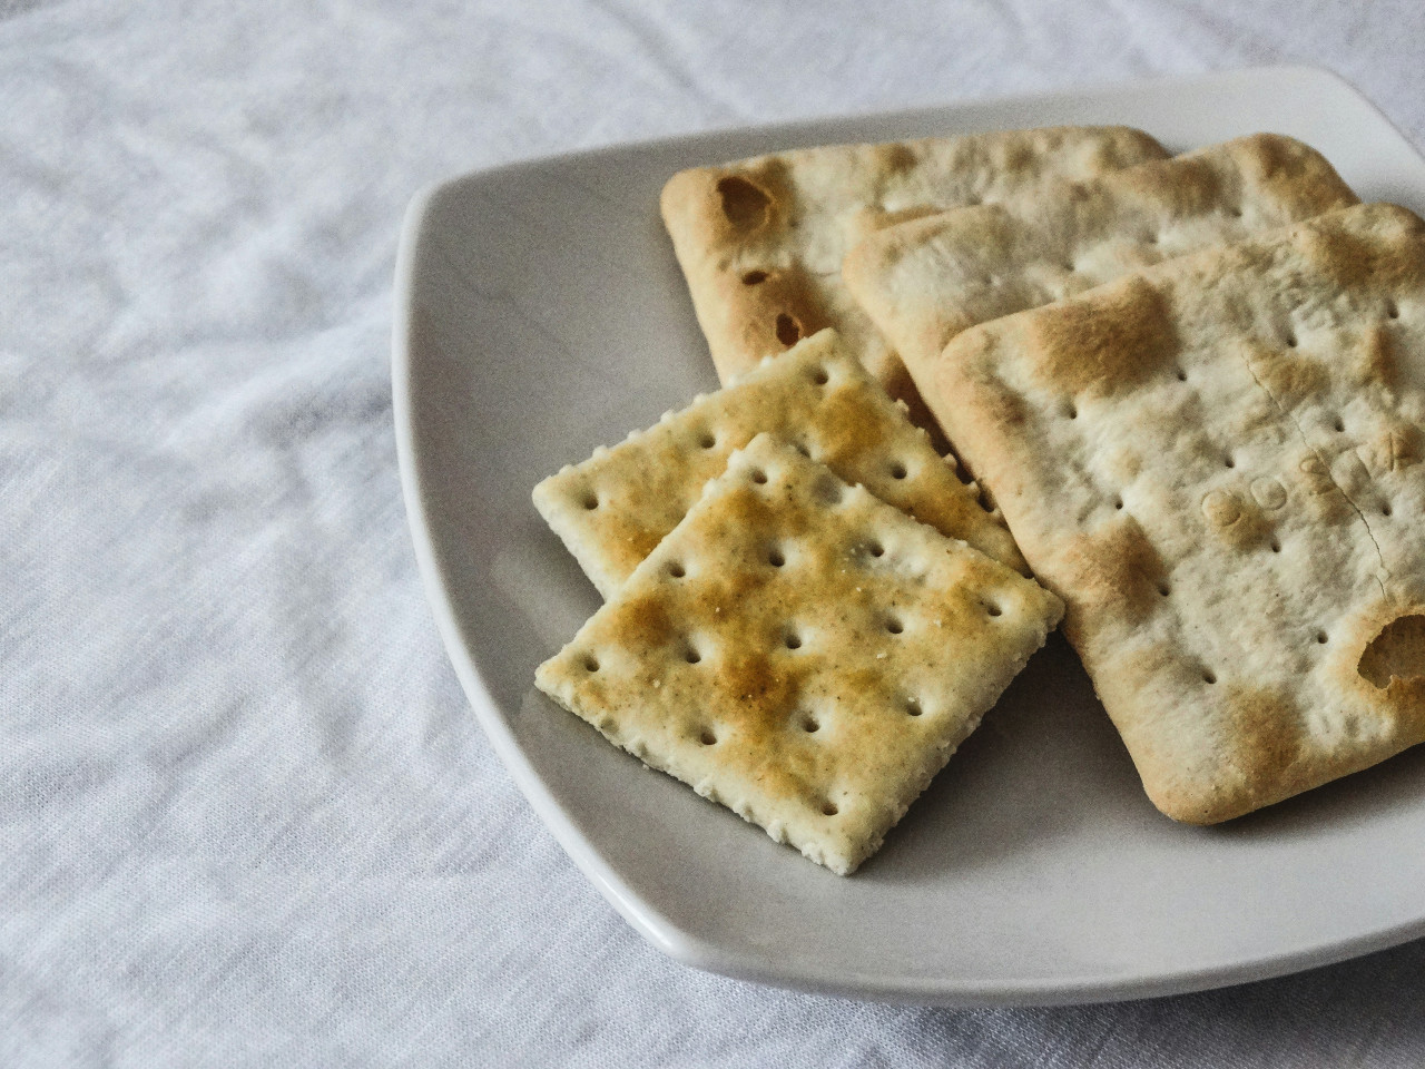
[[[846,251],[881,227],[999,201],[1047,175],[1087,178],[1164,155],[1126,127],[801,148],[680,171],[663,190],[663,220],[722,382],[834,326],[916,408],[903,365],[841,284]]]

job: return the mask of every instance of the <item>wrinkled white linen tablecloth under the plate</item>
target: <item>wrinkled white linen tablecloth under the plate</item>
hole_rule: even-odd
[[[390,429],[420,185],[1261,63],[1425,141],[1425,7],[0,0],[0,1066],[1415,1066],[1425,945],[952,1012],[660,956],[494,758]]]

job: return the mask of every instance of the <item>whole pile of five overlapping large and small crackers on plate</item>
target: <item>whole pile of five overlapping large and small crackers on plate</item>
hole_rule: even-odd
[[[536,683],[607,738],[842,874],[1060,616],[1177,820],[1425,740],[1415,215],[1117,127],[695,168],[663,215],[724,388],[534,490],[606,599]]]

